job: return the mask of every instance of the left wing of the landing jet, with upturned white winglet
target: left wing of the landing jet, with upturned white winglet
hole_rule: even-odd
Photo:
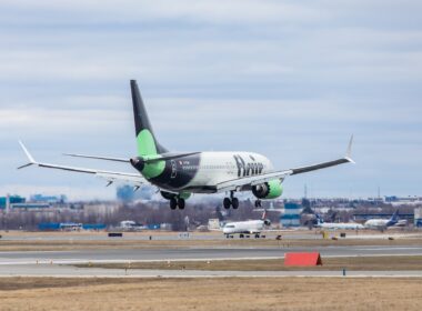
[[[123,181],[123,182],[133,184],[134,187],[140,187],[141,184],[148,183],[147,180],[140,173],[112,172],[112,171],[102,171],[102,170],[96,170],[96,169],[84,169],[84,168],[67,167],[67,165],[58,165],[58,164],[38,162],[33,159],[33,157],[28,151],[28,149],[24,147],[24,144],[21,141],[19,141],[19,143],[20,143],[23,152],[27,154],[29,163],[21,165],[18,169],[23,169],[23,168],[27,168],[30,165],[38,165],[40,168],[57,169],[57,170],[64,170],[64,171],[72,171],[72,172],[80,172],[80,173],[89,173],[89,174],[93,174],[96,177],[105,179],[109,182],[108,185],[110,185],[114,181]]]

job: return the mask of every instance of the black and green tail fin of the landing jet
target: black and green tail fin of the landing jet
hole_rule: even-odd
[[[168,152],[168,150],[155,139],[135,80],[130,80],[130,89],[132,92],[134,129],[138,140],[139,156]]]

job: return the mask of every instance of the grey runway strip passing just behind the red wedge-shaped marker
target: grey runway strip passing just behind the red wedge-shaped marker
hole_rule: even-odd
[[[0,252],[0,265],[128,261],[223,260],[283,258],[287,252],[320,252],[322,257],[422,255],[422,247],[313,247],[313,248],[178,248],[74,251]]]

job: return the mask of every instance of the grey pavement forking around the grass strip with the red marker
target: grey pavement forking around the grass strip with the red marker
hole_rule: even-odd
[[[181,248],[0,252],[0,277],[341,277],[342,271],[192,271],[76,268],[77,263],[278,259],[287,252],[326,257],[422,255],[422,247]],[[349,277],[422,277],[422,271],[351,271]]]

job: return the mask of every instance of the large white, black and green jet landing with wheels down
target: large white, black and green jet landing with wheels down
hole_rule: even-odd
[[[275,170],[271,161],[254,152],[170,152],[159,141],[152,130],[141,93],[135,80],[130,81],[138,154],[133,158],[111,158],[66,153],[64,156],[123,162],[131,164],[137,173],[103,171],[86,168],[67,167],[38,162],[19,141],[30,165],[89,173],[107,180],[107,185],[122,181],[138,190],[142,184],[152,184],[161,195],[169,200],[172,210],[184,209],[185,200],[193,193],[227,193],[223,200],[225,209],[238,209],[237,192],[251,191],[257,198],[255,207],[261,200],[279,198],[283,192],[287,177],[307,173],[344,163],[354,163],[351,159],[353,136],[350,138],[346,153],[332,161],[287,170]]]

